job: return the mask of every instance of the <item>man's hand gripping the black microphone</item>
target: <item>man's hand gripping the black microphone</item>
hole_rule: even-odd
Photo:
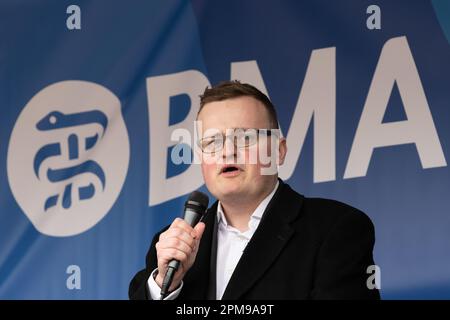
[[[167,266],[173,259],[180,261],[180,267],[173,277],[169,292],[180,285],[184,275],[194,264],[203,231],[205,231],[203,222],[199,222],[192,228],[186,221],[176,218],[169,229],[161,233],[159,241],[156,243],[158,275],[155,279],[160,288],[167,272]]]

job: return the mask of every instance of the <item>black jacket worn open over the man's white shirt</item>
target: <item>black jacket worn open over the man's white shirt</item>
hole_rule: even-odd
[[[208,209],[197,258],[179,299],[207,299],[215,288],[217,202]],[[147,280],[157,267],[154,237],[146,269],[130,283],[130,299],[149,299]],[[374,227],[361,211],[326,199],[305,198],[280,180],[222,299],[379,299],[368,289]]]

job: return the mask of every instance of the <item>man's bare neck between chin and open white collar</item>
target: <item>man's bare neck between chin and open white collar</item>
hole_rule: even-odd
[[[266,198],[275,188],[276,181],[271,184],[271,187],[265,190],[259,197],[249,201],[248,198],[243,197],[240,199],[224,199],[220,201],[222,210],[227,219],[227,222],[232,227],[238,229],[241,232],[248,230],[248,222],[253,212],[259,204]]]

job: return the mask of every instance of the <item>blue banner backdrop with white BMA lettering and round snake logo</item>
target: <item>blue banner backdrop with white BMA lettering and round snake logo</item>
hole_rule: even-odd
[[[372,4],[1,1],[0,298],[127,298],[206,190],[170,134],[237,76],[278,109],[282,177],[371,217],[382,297],[450,298],[450,4]]]

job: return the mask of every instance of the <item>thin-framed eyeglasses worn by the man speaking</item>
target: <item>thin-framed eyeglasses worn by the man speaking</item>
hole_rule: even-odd
[[[216,153],[223,149],[225,140],[231,138],[235,148],[248,148],[258,142],[262,136],[278,136],[279,129],[227,129],[233,131],[229,135],[220,132],[215,135],[202,138],[198,145],[204,153]]]

